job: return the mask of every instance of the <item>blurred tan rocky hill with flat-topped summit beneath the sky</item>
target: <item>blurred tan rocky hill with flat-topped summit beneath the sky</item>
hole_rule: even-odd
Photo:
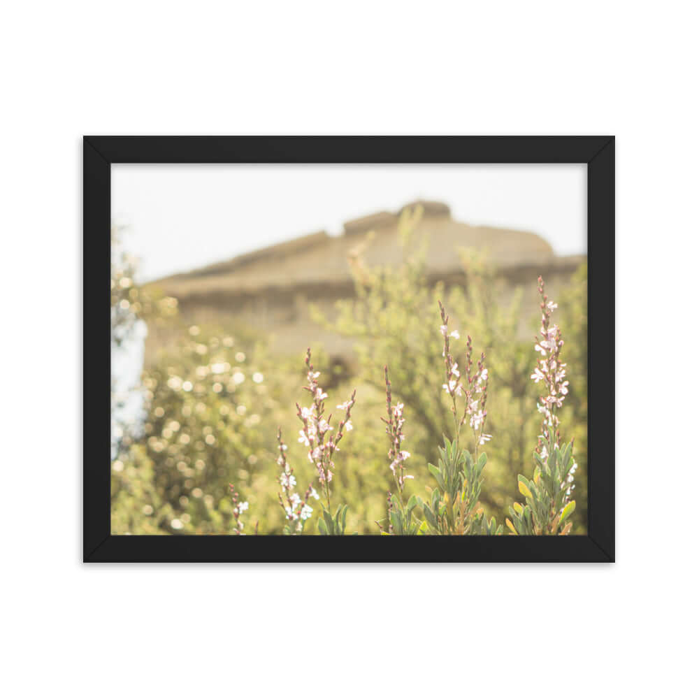
[[[300,353],[309,344],[323,343],[331,355],[351,361],[351,341],[313,322],[309,303],[329,314],[339,298],[354,296],[352,265],[356,268],[359,260],[367,268],[401,264],[399,217],[403,210],[414,210],[418,204],[423,215],[412,236],[418,245],[424,245],[431,282],[462,282],[459,250],[477,250],[505,281],[503,302],[507,302],[518,286],[534,289],[539,274],[556,294],[585,259],[556,257],[552,247],[535,233],[456,222],[445,204],[423,201],[395,213],[379,212],[349,221],[341,236],[312,233],[151,285],[178,299],[187,324],[245,324],[271,334],[273,351]],[[536,295],[525,294],[524,299],[524,315],[535,315]],[[529,330],[523,322],[524,335]],[[162,331],[150,333],[146,361],[171,341],[175,338]]]

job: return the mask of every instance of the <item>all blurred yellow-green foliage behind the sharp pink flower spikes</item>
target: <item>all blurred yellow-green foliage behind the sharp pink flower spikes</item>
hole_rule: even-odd
[[[405,404],[405,448],[412,454],[406,468],[415,477],[405,483],[405,500],[428,499],[435,484],[428,463],[439,462],[442,435],[452,426],[442,390],[438,299],[462,338],[468,333],[477,353],[485,352],[491,376],[487,432],[493,440],[486,447],[479,493],[484,510],[480,527],[489,526],[493,516],[503,524],[520,497],[517,474],[533,475],[540,416],[529,376],[536,357],[533,341],[521,339],[521,299],[523,293],[535,294],[535,280],[513,296],[511,285],[487,259],[464,250],[463,275],[448,284],[431,284],[424,264],[428,240],[412,235],[416,215],[404,213],[401,219],[403,264],[366,268],[361,257],[352,259],[356,296],[338,301],[333,317],[315,311],[317,322],[355,343],[356,365],[349,379],[322,347],[312,347],[332,408],[357,389],[354,429],[336,454],[332,482],[333,512],[340,504],[349,506],[344,513],[347,533],[379,533],[376,522],[386,520],[387,493],[395,485],[380,422],[384,365],[391,372],[394,399]],[[168,343],[143,372],[147,417],[134,419],[113,460],[113,533],[231,533],[229,483],[241,501],[250,503],[244,513],[246,532],[258,524],[260,533],[282,533],[278,428],[298,487],[317,486],[307,449],[298,443],[301,423],[294,408],[296,401],[305,400],[303,356],[274,356],[265,338],[245,328],[184,326],[176,302],[145,294],[133,283],[134,261],[124,261],[115,268],[113,259],[113,345],[122,343],[120,338],[139,319],[149,325],[166,323],[178,329],[180,339]],[[122,282],[127,278],[131,283]],[[566,440],[575,437],[579,466],[572,533],[586,528],[586,288],[582,268],[557,299],[570,378],[570,395],[560,411],[562,431]],[[510,300],[503,303],[503,298]],[[536,315],[530,326],[533,338]],[[305,533],[319,532],[320,515],[317,507]]]

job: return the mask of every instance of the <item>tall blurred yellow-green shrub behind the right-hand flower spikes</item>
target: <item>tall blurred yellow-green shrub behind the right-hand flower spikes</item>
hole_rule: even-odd
[[[520,331],[522,295],[536,296],[536,278],[513,294],[511,285],[498,277],[482,254],[462,250],[461,278],[450,280],[448,286],[429,284],[424,263],[428,240],[412,236],[416,215],[419,212],[404,212],[401,217],[403,264],[398,268],[366,268],[361,259],[355,259],[356,298],[338,301],[336,319],[327,319],[319,312],[315,318],[356,342],[358,380],[377,389],[373,395],[361,394],[358,409],[363,406],[367,410],[375,401],[371,411],[381,415],[383,368],[388,366],[394,393],[405,403],[410,451],[420,455],[411,460],[412,473],[416,481],[424,483],[430,480],[426,463],[438,461],[442,435],[452,430],[449,397],[442,390],[444,359],[438,310],[438,300],[442,300],[462,339],[470,335],[477,352],[486,354],[490,373],[487,432],[493,440],[487,445],[488,467],[480,502],[489,516],[504,521],[507,507],[519,496],[517,475],[533,473],[533,450],[540,433],[541,419],[535,408],[538,389],[530,380],[537,355],[533,340],[522,340]],[[575,437],[579,466],[573,533],[586,530],[586,282],[583,267],[559,303],[566,308],[560,324],[571,384],[560,415],[566,438]],[[510,301],[504,303],[508,298]],[[539,325],[535,314],[527,324],[532,338]],[[455,358],[463,361],[463,353]]]

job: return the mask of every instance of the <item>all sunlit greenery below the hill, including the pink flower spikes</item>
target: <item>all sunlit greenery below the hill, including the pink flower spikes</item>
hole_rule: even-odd
[[[461,280],[430,284],[416,216],[401,266],[354,259],[354,298],[315,312],[352,338],[351,375],[313,338],[304,361],[249,329],[182,325],[133,389],[143,418],[113,396],[113,533],[584,533],[585,268],[557,308],[536,278],[503,305],[468,250]],[[523,319],[523,294],[539,314]],[[112,307],[113,353],[139,322],[182,324],[117,242]]]

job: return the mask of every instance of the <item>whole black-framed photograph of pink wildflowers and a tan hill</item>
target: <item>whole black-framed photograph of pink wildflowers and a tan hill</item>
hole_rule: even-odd
[[[83,226],[84,561],[614,561],[612,136],[85,136]]]

